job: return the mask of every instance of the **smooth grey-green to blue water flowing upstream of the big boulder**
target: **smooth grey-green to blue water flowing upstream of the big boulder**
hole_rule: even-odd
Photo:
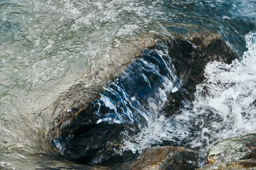
[[[244,35],[256,29],[255,18],[254,0],[1,0],[0,167],[76,166],[55,157],[45,142],[52,113],[41,111],[96,69],[95,63],[107,61],[110,50],[124,40],[212,30],[242,56],[247,51]],[[212,67],[208,70],[214,74]],[[246,80],[241,88],[250,85]],[[132,143],[127,147],[140,148]]]

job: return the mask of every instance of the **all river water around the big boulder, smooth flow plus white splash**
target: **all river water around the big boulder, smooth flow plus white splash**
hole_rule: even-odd
[[[51,113],[41,111],[120,42],[145,34],[215,31],[241,62],[209,63],[195,101],[124,134],[125,150],[172,143],[198,148],[203,159],[215,142],[255,132],[256,52],[244,38],[255,18],[254,0],[1,0],[0,169],[83,169],[52,154],[44,140]]]

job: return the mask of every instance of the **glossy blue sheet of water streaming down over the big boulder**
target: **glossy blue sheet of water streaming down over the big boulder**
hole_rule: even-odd
[[[119,123],[136,132],[159,116],[167,95],[182,81],[175,76],[168,46],[163,42],[156,46],[144,49],[141,59],[103,88],[100,99],[92,103],[97,123]]]

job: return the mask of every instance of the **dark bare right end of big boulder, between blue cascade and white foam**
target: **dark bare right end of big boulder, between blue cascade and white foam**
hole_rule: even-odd
[[[217,60],[231,64],[238,55],[221,40],[218,34],[202,32],[200,34],[187,34],[185,42],[182,38],[177,39],[170,45],[170,57],[172,58],[177,76],[183,80],[183,88],[171,93],[165,110],[166,116],[171,116],[183,107],[184,100],[193,101],[196,85],[203,82],[204,68],[208,62]],[[194,44],[190,45],[190,43]],[[193,49],[196,47],[196,49]]]

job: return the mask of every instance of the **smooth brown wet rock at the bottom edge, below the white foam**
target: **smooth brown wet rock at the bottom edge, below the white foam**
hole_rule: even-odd
[[[132,164],[131,170],[195,170],[198,153],[182,147],[151,147]]]

